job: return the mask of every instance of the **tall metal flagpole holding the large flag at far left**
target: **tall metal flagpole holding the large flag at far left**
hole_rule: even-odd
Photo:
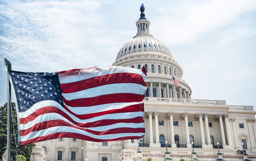
[[[7,161],[11,161],[11,84],[10,73],[12,64],[9,60],[4,58],[4,63],[7,67]]]

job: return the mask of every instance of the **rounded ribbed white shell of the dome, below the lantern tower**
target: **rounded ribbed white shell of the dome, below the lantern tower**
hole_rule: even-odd
[[[171,52],[166,45],[151,36],[149,32],[140,32],[140,35],[137,34],[133,39],[123,45],[117,54],[116,60],[125,55],[138,52],[160,53],[169,56],[173,60]]]

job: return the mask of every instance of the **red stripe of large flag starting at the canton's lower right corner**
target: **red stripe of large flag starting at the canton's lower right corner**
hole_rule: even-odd
[[[66,105],[71,107],[95,106],[99,104],[110,104],[118,102],[141,102],[143,99],[144,95],[138,95],[133,93],[114,93],[109,95],[101,95],[91,98],[80,98],[69,101],[62,96],[62,101],[64,101]]]

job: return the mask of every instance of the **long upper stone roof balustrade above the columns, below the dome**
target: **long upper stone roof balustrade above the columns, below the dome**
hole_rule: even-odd
[[[226,105],[224,100],[204,100],[204,99],[185,99],[185,98],[159,98],[159,97],[145,97],[145,102],[168,102],[181,104],[214,104]]]

